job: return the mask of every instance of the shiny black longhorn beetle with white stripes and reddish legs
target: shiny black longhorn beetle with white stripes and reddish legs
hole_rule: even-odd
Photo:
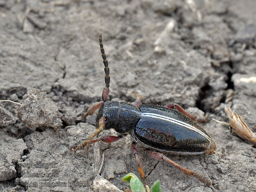
[[[192,175],[210,185],[211,181],[204,177],[203,174],[186,169],[164,154],[152,151],[153,149],[175,155],[212,154],[215,150],[214,141],[195,122],[195,120],[205,121],[205,118],[190,115],[180,105],[175,103],[169,103],[164,107],[159,105],[142,105],[140,101],[141,96],[136,98],[135,105],[125,102],[108,101],[110,77],[108,61],[102,44],[102,34],[100,34],[99,41],[105,66],[105,88],[102,91],[102,101],[92,105],[84,114],[84,118],[86,118],[87,115],[93,114],[99,108],[99,112],[96,115],[96,131],[88,140],[72,147],[71,150],[76,151],[86,147],[87,152],[92,143],[98,141],[112,143],[122,138],[122,135],[106,135],[94,138],[103,130],[113,128],[118,133],[131,132],[134,138],[131,144],[131,151],[135,156],[140,177],[143,180],[146,179],[146,176],[142,169],[136,143],[140,143],[144,147],[151,149],[146,149],[148,156],[151,158],[166,161],[180,171]],[[177,110],[174,108],[177,108]]]

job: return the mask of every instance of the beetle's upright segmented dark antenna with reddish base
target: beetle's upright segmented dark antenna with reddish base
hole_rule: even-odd
[[[105,54],[105,50],[103,48],[103,43],[102,43],[102,33],[100,34],[100,52],[101,52],[101,56],[103,59],[103,63],[104,63],[104,71],[105,71],[105,85],[106,87],[103,89],[102,91],[102,100],[105,102],[108,99],[108,92],[109,92],[109,83],[110,83],[110,76],[109,76],[109,68],[108,68],[108,60],[107,60],[107,56]]]

